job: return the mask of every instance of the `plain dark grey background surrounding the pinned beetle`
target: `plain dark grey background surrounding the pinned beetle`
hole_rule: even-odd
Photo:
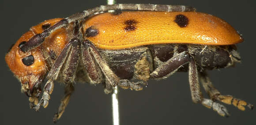
[[[229,22],[239,30],[245,42],[238,44],[242,63],[236,68],[210,71],[215,86],[223,94],[256,104],[255,50],[256,11],[255,0],[118,0],[118,3],[190,5],[197,11],[209,13]],[[1,91],[0,124],[49,125],[63,96],[63,86],[56,83],[49,106],[40,112],[29,109],[28,98],[20,92],[20,83],[13,77],[4,61],[12,43],[33,25],[50,18],[65,18],[79,11],[105,4],[105,0],[9,0],[0,1],[1,14]],[[204,93],[205,94],[205,93]],[[64,115],[58,125],[111,125],[110,95],[102,86],[76,84]],[[207,97],[207,96],[205,96]],[[176,73],[167,80],[149,81],[143,91],[120,89],[121,125],[256,125],[256,111],[239,111],[226,105],[230,118],[193,104],[187,73]]]

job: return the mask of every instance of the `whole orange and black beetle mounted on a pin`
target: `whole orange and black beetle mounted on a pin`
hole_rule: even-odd
[[[243,111],[253,105],[221,95],[206,71],[239,63],[235,44],[242,41],[226,21],[193,7],[113,4],[33,26],[11,46],[5,60],[36,111],[49,104],[54,81],[65,84],[55,122],[75,81],[102,84],[105,93],[112,93],[114,86],[141,90],[148,79],[166,79],[176,71],[188,71],[193,102],[229,116],[216,100]],[[199,81],[211,99],[203,98]]]

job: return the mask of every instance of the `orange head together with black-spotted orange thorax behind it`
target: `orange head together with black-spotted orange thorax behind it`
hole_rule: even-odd
[[[66,32],[64,29],[57,29],[52,32],[48,39],[45,39],[41,46],[38,46],[27,52],[23,52],[20,48],[29,41],[35,34],[41,33],[49,27],[56,24],[62,18],[55,18],[41,22],[38,25],[31,27],[29,32],[26,32],[19,38],[19,40],[11,46],[10,50],[5,56],[5,61],[16,78],[21,82],[21,90],[28,96],[36,96],[40,94],[40,85],[43,82],[47,69],[50,65],[47,63],[47,53],[51,50],[55,54],[60,54],[64,48],[66,39]],[[45,55],[45,56],[43,56]]]

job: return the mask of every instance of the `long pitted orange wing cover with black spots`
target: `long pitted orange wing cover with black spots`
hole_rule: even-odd
[[[227,22],[200,12],[103,13],[85,21],[83,32],[91,26],[97,27],[99,34],[87,39],[109,50],[161,43],[230,45],[243,40]]]

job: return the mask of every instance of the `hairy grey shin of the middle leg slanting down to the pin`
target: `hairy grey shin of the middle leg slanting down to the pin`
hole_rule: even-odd
[[[112,87],[116,86],[117,83],[120,81],[119,78],[109,68],[108,64],[104,61],[104,59],[102,59],[98,50],[95,48],[95,46],[89,40],[85,40],[83,42],[82,49],[83,49],[82,56],[90,56],[91,58],[93,58],[94,61],[96,62],[96,64],[98,65],[98,67],[101,69],[102,74],[105,77],[105,86],[106,86],[106,88],[104,90],[105,93],[111,93]],[[86,59],[86,57],[83,57],[83,59]],[[93,66],[97,67],[97,65],[94,64]],[[89,74],[90,74],[90,72],[89,72]]]

